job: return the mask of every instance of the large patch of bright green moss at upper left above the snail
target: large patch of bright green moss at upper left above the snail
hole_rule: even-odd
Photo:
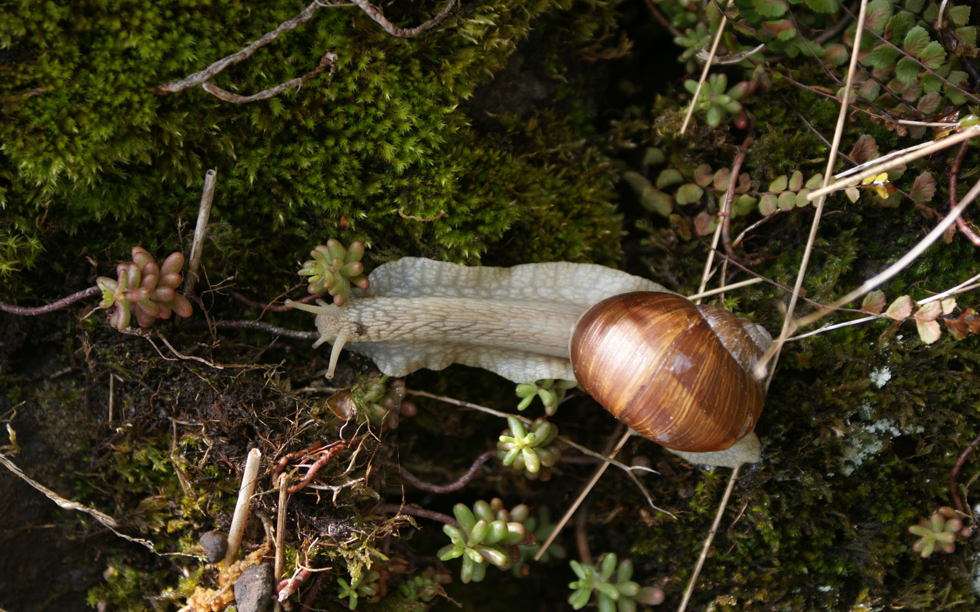
[[[237,51],[294,17],[295,4],[256,12],[236,3],[16,3],[0,24],[0,220],[12,237],[0,269],[56,265],[63,256],[54,247],[66,239],[77,244],[73,258],[97,257],[120,236],[132,244],[137,233],[148,249],[178,247],[175,222],[194,218],[207,168],[218,182],[206,259],[213,272],[246,270],[241,279],[279,276],[273,262],[334,234],[341,216],[345,242],[374,244],[378,259],[395,251],[474,259],[511,232],[535,235],[547,259],[612,261],[614,242],[601,241],[618,232],[618,218],[598,150],[565,118],[525,121],[518,137],[529,140],[501,147],[470,126],[462,106],[532,23],[572,4],[458,8],[414,39],[388,35],[356,7],[324,7],[212,81],[254,93],[310,71],[327,50],[339,56],[336,72],[235,105],[200,88],[154,88]],[[564,49],[590,41],[614,5],[575,4],[574,31],[556,37]],[[389,17],[418,24],[442,6],[416,3]],[[551,153],[525,156],[539,138]],[[41,248],[52,252],[43,261]]]

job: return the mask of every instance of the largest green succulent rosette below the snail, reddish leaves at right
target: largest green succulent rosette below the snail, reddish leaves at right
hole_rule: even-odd
[[[480,499],[473,504],[472,510],[458,503],[453,506],[453,514],[459,527],[445,525],[442,528],[452,543],[440,548],[437,554],[443,561],[463,557],[460,580],[464,585],[482,581],[487,563],[509,570],[519,558],[517,546],[537,542],[534,534],[523,525],[528,512],[524,504],[516,505],[508,512],[498,497],[490,503]]]

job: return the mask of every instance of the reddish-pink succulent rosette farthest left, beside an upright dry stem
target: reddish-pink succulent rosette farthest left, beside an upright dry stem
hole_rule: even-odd
[[[133,247],[132,261],[116,266],[116,279],[100,276],[95,281],[102,290],[99,307],[113,308],[109,324],[123,331],[129,326],[133,311],[140,327],[149,327],[158,318],[170,318],[172,312],[190,316],[190,303],[176,292],[183,264],[184,257],[179,252],[158,266],[146,249]]]

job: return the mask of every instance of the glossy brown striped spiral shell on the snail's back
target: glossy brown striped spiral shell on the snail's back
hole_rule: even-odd
[[[621,294],[578,319],[572,368],[589,395],[643,437],[676,450],[723,450],[753,430],[765,396],[749,367],[764,342],[747,325],[670,293]]]

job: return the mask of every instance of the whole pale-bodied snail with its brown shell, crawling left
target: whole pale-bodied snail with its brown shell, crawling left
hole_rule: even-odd
[[[771,340],[723,308],[567,261],[503,268],[402,258],[369,280],[344,306],[286,302],[317,314],[314,347],[333,345],[327,378],[349,349],[396,377],[463,363],[518,383],[576,380],[616,418],[692,462],[759,460],[752,430],[764,391],[751,372]]]

